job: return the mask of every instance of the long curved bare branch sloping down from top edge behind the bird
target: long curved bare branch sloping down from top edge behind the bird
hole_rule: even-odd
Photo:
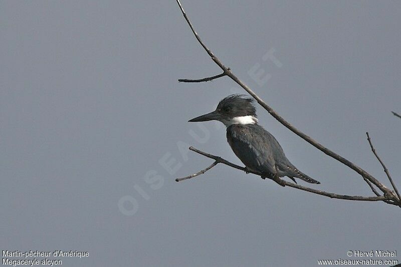
[[[226,68],[224,64],[212,53],[212,51],[200,40],[200,37],[194,30],[192,23],[189,21],[188,16],[186,15],[184,9],[182,8],[181,3],[179,0],[176,0],[182,15],[184,16],[185,21],[189,25],[189,28],[191,29],[192,33],[194,34],[196,40],[199,42],[199,44],[205,49],[205,51],[208,53],[208,55],[212,58],[212,60],[223,70],[223,72],[227,73],[227,76],[229,76],[233,81],[235,81],[238,85],[240,85],[242,88],[245,89],[255,100],[265,109],[267,110],[276,120],[278,120],[281,124],[283,124],[285,127],[287,127],[289,130],[291,130],[293,133],[325,153],[326,155],[336,159],[337,161],[341,162],[342,164],[348,166],[349,168],[353,169],[357,173],[359,173],[362,177],[368,179],[371,183],[376,185],[383,193],[385,194],[391,194],[391,190],[388,189],[384,184],[382,184],[380,181],[378,181],[376,178],[374,178],[371,174],[357,166],[356,164],[350,162],[349,160],[345,159],[344,157],[334,153],[330,149],[326,148],[325,146],[321,145],[317,141],[315,141],[313,138],[309,137],[308,135],[304,134],[297,128],[295,128],[293,125],[291,125],[289,122],[287,122],[283,117],[281,117],[276,111],[274,111],[269,105],[267,105],[259,96],[257,96],[251,88],[249,88],[245,83],[243,83],[234,73]]]

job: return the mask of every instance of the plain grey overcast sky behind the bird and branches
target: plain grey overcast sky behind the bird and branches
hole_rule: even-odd
[[[401,189],[401,120],[390,113],[401,113],[399,2],[182,5],[280,115],[389,185],[368,131]],[[222,124],[187,120],[245,93],[228,78],[177,82],[221,71],[174,1],[2,1],[0,38],[2,249],[89,251],[66,266],[313,266],[355,259],[348,250],[401,253],[395,206],[282,188],[224,165],[174,181],[213,162],[189,145],[241,164]],[[278,61],[263,58],[269,51]],[[252,76],[260,69],[265,82]],[[357,173],[258,114],[321,182],[311,187],[373,195]]]

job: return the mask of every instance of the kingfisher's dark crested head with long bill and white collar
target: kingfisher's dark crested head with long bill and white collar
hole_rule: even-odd
[[[254,99],[245,95],[231,95],[219,102],[215,111],[193,118],[189,122],[218,120],[227,127],[232,124],[258,123]]]

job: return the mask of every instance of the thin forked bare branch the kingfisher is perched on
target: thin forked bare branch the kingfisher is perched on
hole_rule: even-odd
[[[236,169],[239,169],[239,170],[243,170],[243,171],[248,171],[249,173],[253,173],[253,174],[256,174],[256,175],[259,175],[259,176],[262,175],[260,172],[255,172],[255,171],[252,171],[252,170],[248,170],[248,169],[246,169],[246,168],[244,168],[244,167],[241,167],[241,166],[239,166],[239,165],[236,165],[236,164],[234,164],[234,163],[231,163],[230,161],[225,160],[225,159],[222,158],[222,157],[215,156],[215,155],[212,155],[212,154],[209,154],[209,153],[200,151],[200,150],[198,150],[198,149],[196,149],[196,148],[194,148],[194,147],[189,147],[189,150],[192,150],[192,151],[194,151],[194,152],[196,152],[196,153],[198,153],[198,154],[200,154],[200,155],[203,155],[203,156],[205,156],[205,157],[214,159],[215,162],[214,162],[212,165],[210,165],[208,168],[206,168],[206,169],[203,169],[203,170],[201,170],[201,171],[199,171],[199,172],[197,172],[197,173],[195,173],[195,174],[189,175],[189,176],[184,177],[184,178],[178,178],[178,179],[176,179],[176,181],[177,181],[177,180],[183,180],[183,179],[189,179],[189,178],[192,178],[192,177],[194,177],[194,176],[203,174],[203,173],[205,173],[206,171],[208,171],[209,169],[211,169],[211,168],[213,168],[214,166],[216,166],[218,163],[223,163],[223,164],[228,165],[228,166],[230,166],[230,167],[233,167],[233,168],[236,168]],[[280,179],[280,180],[281,180],[281,179]],[[300,189],[300,190],[303,190],[303,191],[307,191],[307,192],[310,192],[310,193],[314,193],[314,194],[318,194],[318,195],[327,196],[327,197],[330,197],[330,198],[338,198],[338,199],[346,199],[346,200],[359,200],[359,201],[384,201],[384,202],[386,202],[386,203],[395,205],[394,202],[391,202],[390,199],[388,199],[387,196],[381,196],[381,195],[378,195],[378,196],[350,196],[350,195],[340,195],[340,194],[329,193],[329,192],[325,192],[325,191],[313,189],[313,188],[310,188],[310,187],[302,186],[302,185],[295,184],[295,183],[292,183],[292,182],[288,182],[288,181],[285,181],[285,180],[281,180],[281,181],[282,181],[282,183],[283,183],[284,185],[287,185],[287,186],[290,186],[290,187],[293,187],[293,188],[296,188],[296,189]],[[277,182],[277,181],[276,181],[276,182]],[[280,182],[277,182],[277,183],[281,185]]]

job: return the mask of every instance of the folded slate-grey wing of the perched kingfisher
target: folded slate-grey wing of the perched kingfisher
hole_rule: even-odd
[[[248,168],[260,172],[276,173],[270,133],[258,127],[232,125],[227,128],[227,140],[237,157]],[[274,137],[273,137],[274,138]]]

